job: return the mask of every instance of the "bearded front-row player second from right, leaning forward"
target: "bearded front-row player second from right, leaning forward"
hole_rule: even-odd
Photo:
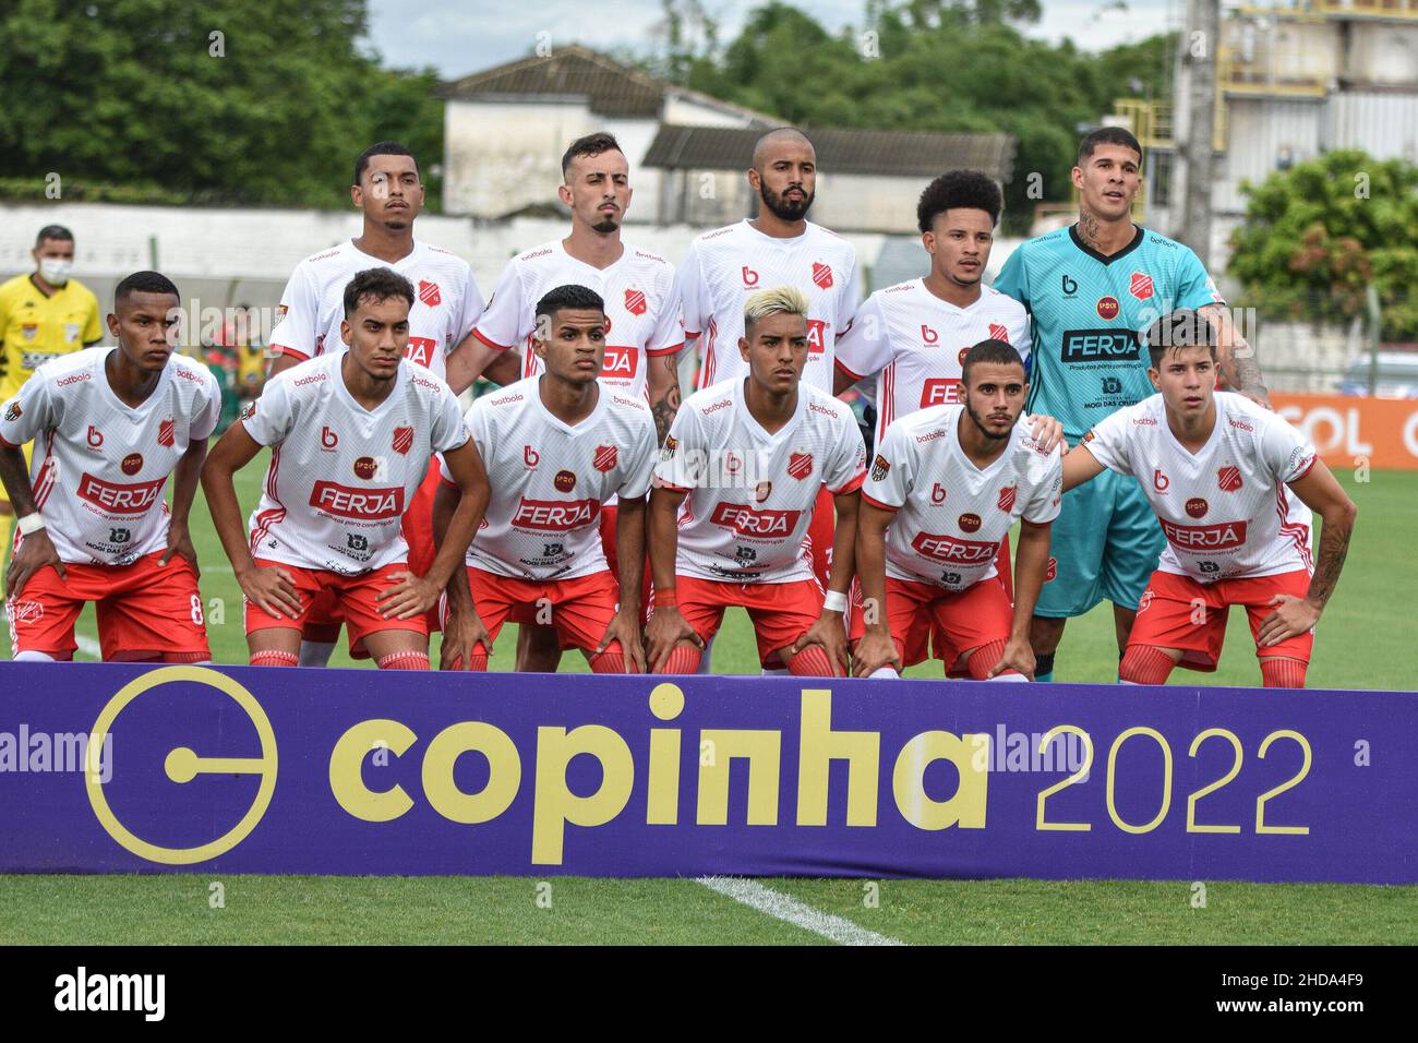
[[[925,634],[944,636],[947,673],[1032,680],[1029,620],[1059,512],[1062,463],[1029,434],[1020,353],[981,341],[964,359],[963,402],[896,420],[862,487],[856,569],[885,614],[855,623],[854,673],[920,661]],[[1000,541],[1020,529],[1014,605],[995,570]]]

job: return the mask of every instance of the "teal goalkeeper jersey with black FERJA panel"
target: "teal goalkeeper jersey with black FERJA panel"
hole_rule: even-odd
[[[1010,254],[994,288],[1029,312],[1028,410],[1061,420],[1069,444],[1154,393],[1146,345],[1153,322],[1222,302],[1190,248],[1143,227],[1112,257],[1086,245],[1076,226],[1031,238]]]

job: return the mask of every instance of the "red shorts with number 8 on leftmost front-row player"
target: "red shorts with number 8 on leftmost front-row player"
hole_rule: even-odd
[[[105,661],[167,653],[211,658],[197,573],[186,558],[159,565],[162,556],[155,551],[122,566],[65,563],[65,579],[52,566],[40,569],[7,603],[13,653],[74,658],[74,622],[86,602],[95,602]]]

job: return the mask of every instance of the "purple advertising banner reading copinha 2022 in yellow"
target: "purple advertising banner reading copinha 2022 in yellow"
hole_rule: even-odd
[[[1418,883],[1418,694],[0,664],[0,871]]]

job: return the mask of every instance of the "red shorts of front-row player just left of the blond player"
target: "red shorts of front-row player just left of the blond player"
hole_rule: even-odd
[[[468,568],[468,586],[488,637],[498,639],[502,624],[542,623],[556,629],[563,649],[596,654],[605,629],[615,619],[620,587],[610,572],[576,579],[513,579]],[[539,617],[540,616],[540,617]],[[613,647],[618,647],[613,646]]]

